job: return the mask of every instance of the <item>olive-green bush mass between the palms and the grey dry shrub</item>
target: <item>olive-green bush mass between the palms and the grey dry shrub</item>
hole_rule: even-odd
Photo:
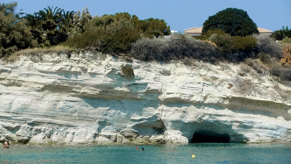
[[[74,36],[65,45],[93,49],[107,53],[128,53],[131,44],[141,36],[151,37],[168,34],[169,26],[164,20],[139,20],[136,15],[116,13],[93,17],[84,25],[84,32]]]

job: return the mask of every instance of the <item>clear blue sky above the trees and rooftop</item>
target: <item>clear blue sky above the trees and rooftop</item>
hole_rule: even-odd
[[[291,0],[14,0],[17,12],[32,14],[54,6],[78,11],[88,7],[92,16],[127,12],[139,19],[164,19],[171,30],[201,27],[211,15],[226,9],[245,10],[258,27],[271,31],[291,28]],[[0,3],[12,1],[1,0]]]

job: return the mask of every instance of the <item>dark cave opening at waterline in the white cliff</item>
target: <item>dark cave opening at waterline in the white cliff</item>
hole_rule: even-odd
[[[229,143],[228,134],[219,134],[212,131],[200,130],[193,134],[191,143]]]

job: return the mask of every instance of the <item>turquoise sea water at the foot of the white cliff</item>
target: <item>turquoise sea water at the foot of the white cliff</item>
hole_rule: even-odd
[[[135,150],[144,147],[145,151]],[[291,163],[291,143],[12,145],[0,163]],[[196,158],[191,158],[194,154]]]

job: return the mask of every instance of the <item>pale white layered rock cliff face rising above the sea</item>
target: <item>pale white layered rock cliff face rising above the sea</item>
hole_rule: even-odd
[[[121,65],[132,66],[127,79]],[[0,141],[188,143],[194,133],[230,142],[290,142],[290,83],[234,64],[169,64],[99,52],[0,61]],[[288,97],[288,96],[287,96]]]

